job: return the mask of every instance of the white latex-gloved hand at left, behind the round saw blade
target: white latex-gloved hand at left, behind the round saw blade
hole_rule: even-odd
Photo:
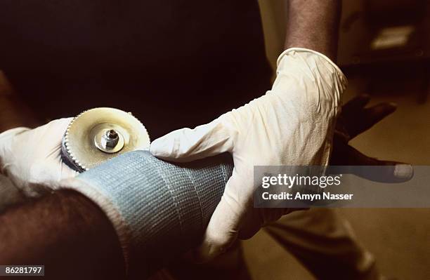
[[[0,134],[0,171],[27,196],[55,189],[64,178],[77,175],[61,160],[61,140],[72,118],[57,119],[38,128],[13,128]]]

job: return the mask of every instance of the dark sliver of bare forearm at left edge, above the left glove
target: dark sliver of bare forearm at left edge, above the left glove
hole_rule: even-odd
[[[36,127],[40,122],[27,105],[13,93],[6,75],[0,70],[0,133],[18,126]]]

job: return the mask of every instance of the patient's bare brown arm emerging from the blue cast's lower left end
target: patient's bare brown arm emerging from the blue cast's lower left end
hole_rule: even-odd
[[[45,265],[48,279],[122,279],[124,260],[105,214],[59,191],[0,216],[0,265]]]

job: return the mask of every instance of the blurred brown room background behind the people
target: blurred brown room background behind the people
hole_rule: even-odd
[[[260,0],[271,65],[282,51],[285,6]],[[344,102],[359,93],[397,111],[351,144],[365,154],[430,165],[430,3],[424,0],[344,0],[338,64],[348,76]],[[430,187],[430,184],[429,184]],[[393,279],[430,279],[430,209],[339,209]],[[244,242],[253,279],[313,279],[260,231]]]

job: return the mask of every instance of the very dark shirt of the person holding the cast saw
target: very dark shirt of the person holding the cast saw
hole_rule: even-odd
[[[269,88],[256,0],[1,0],[0,69],[42,118],[131,111],[156,138]]]

